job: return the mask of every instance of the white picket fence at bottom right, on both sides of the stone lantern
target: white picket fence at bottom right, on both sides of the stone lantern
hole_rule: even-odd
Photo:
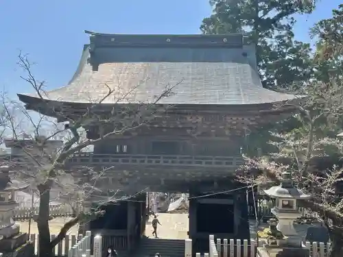
[[[311,257],[329,257],[331,243],[305,243]],[[257,241],[250,239],[243,242],[240,239],[220,239],[215,242],[214,236],[209,236],[209,253],[197,253],[196,257],[256,257]]]

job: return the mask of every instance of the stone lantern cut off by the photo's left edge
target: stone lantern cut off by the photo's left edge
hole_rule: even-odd
[[[9,167],[0,167],[0,253],[5,256],[23,256],[33,254],[32,243],[27,242],[27,234],[20,232],[18,224],[14,223],[13,212],[18,206],[14,199],[16,191],[27,188],[28,184],[10,180]]]

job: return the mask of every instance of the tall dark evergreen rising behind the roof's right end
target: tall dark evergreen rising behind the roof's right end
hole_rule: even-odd
[[[309,13],[314,3],[298,0],[212,0],[213,14],[202,21],[204,34],[244,32],[257,45],[265,88],[303,84],[313,75],[310,45],[294,40],[294,14]]]

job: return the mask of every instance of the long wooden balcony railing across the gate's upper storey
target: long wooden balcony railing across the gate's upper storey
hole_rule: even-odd
[[[146,165],[169,167],[223,167],[237,168],[244,164],[241,156],[152,156],[119,154],[74,154],[69,165]]]

